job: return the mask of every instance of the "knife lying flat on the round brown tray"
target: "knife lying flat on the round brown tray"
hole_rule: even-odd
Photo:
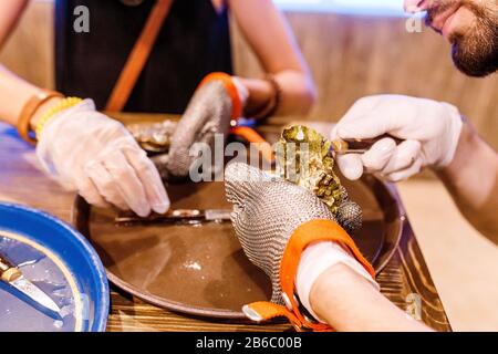
[[[227,222],[230,221],[230,209],[176,209],[169,210],[165,215],[153,214],[146,218],[141,218],[134,212],[123,211],[117,215],[114,222],[117,226],[132,225],[154,225],[154,223],[185,223],[198,225],[204,222]]]

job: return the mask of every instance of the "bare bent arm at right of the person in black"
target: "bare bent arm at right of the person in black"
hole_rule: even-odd
[[[271,0],[230,0],[230,10],[242,35],[255,51],[262,69],[273,75],[281,88],[276,115],[305,115],[315,98],[310,70],[286,18]],[[271,84],[243,80],[250,92],[248,112],[264,108],[272,97]]]

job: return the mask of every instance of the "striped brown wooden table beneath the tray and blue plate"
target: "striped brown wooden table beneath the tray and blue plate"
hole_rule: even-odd
[[[165,116],[120,115],[125,124],[157,122]],[[269,124],[281,124],[279,119]],[[74,194],[64,191],[39,169],[32,146],[15,129],[0,124],[0,201],[15,202],[48,211],[71,222]],[[419,315],[438,331],[450,331],[437,290],[433,283],[408,220],[396,253],[377,274],[382,292],[403,310]],[[108,331],[291,331],[287,323],[255,325],[186,316],[159,309],[122,293],[112,287]]]

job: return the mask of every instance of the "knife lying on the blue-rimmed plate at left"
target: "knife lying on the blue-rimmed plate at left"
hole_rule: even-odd
[[[0,254],[0,279],[44,309],[55,313],[61,312],[61,309],[48,294],[25,279],[19,268],[2,254]]]

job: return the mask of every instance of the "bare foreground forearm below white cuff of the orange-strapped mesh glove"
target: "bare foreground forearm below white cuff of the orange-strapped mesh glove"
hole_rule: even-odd
[[[311,289],[310,302],[313,311],[340,332],[430,331],[344,264],[320,275]]]

